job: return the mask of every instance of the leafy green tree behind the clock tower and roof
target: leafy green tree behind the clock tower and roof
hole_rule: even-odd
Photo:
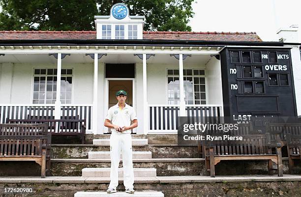
[[[94,30],[94,16],[118,2],[146,17],[144,30],[191,30],[194,0],[0,0],[0,30]]]

